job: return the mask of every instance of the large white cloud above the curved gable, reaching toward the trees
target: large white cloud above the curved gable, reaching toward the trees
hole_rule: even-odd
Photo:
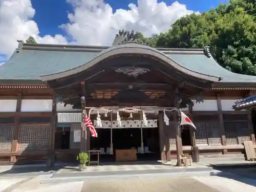
[[[119,29],[135,30],[145,36],[167,31],[177,18],[193,11],[178,2],[172,5],[157,0],[138,0],[129,10],[113,9],[101,0],[67,0],[74,12],[70,23],[62,25],[68,34],[82,45],[111,45]]]

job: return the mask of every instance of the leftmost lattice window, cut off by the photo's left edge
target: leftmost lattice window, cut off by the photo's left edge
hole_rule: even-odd
[[[0,150],[11,150],[14,124],[0,124]]]

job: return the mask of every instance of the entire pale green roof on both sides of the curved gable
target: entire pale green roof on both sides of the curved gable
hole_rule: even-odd
[[[84,65],[107,50],[124,45],[111,48],[40,44],[24,44],[23,46],[0,67],[0,80],[40,80],[41,75],[71,70]],[[138,47],[155,50],[142,45]],[[183,68],[209,76],[221,77],[221,82],[256,82],[256,76],[235,74],[222,68],[212,57],[203,54],[203,49],[158,48],[157,50]]]

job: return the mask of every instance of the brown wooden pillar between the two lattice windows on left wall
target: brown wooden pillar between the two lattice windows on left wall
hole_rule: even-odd
[[[20,110],[22,108],[22,94],[18,93],[17,95],[17,104],[16,104],[16,113],[14,120],[14,132],[11,145],[11,152],[16,152],[18,150],[18,134],[19,134],[19,122],[20,122]],[[11,162],[16,162],[16,156],[11,156]]]

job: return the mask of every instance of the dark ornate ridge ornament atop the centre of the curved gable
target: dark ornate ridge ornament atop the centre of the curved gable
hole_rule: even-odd
[[[119,32],[116,34],[116,37],[113,41],[113,46],[122,45],[122,44],[128,44],[128,43],[137,43],[140,44],[138,41],[137,32],[134,32],[134,30],[127,31],[127,30],[119,30]]]

